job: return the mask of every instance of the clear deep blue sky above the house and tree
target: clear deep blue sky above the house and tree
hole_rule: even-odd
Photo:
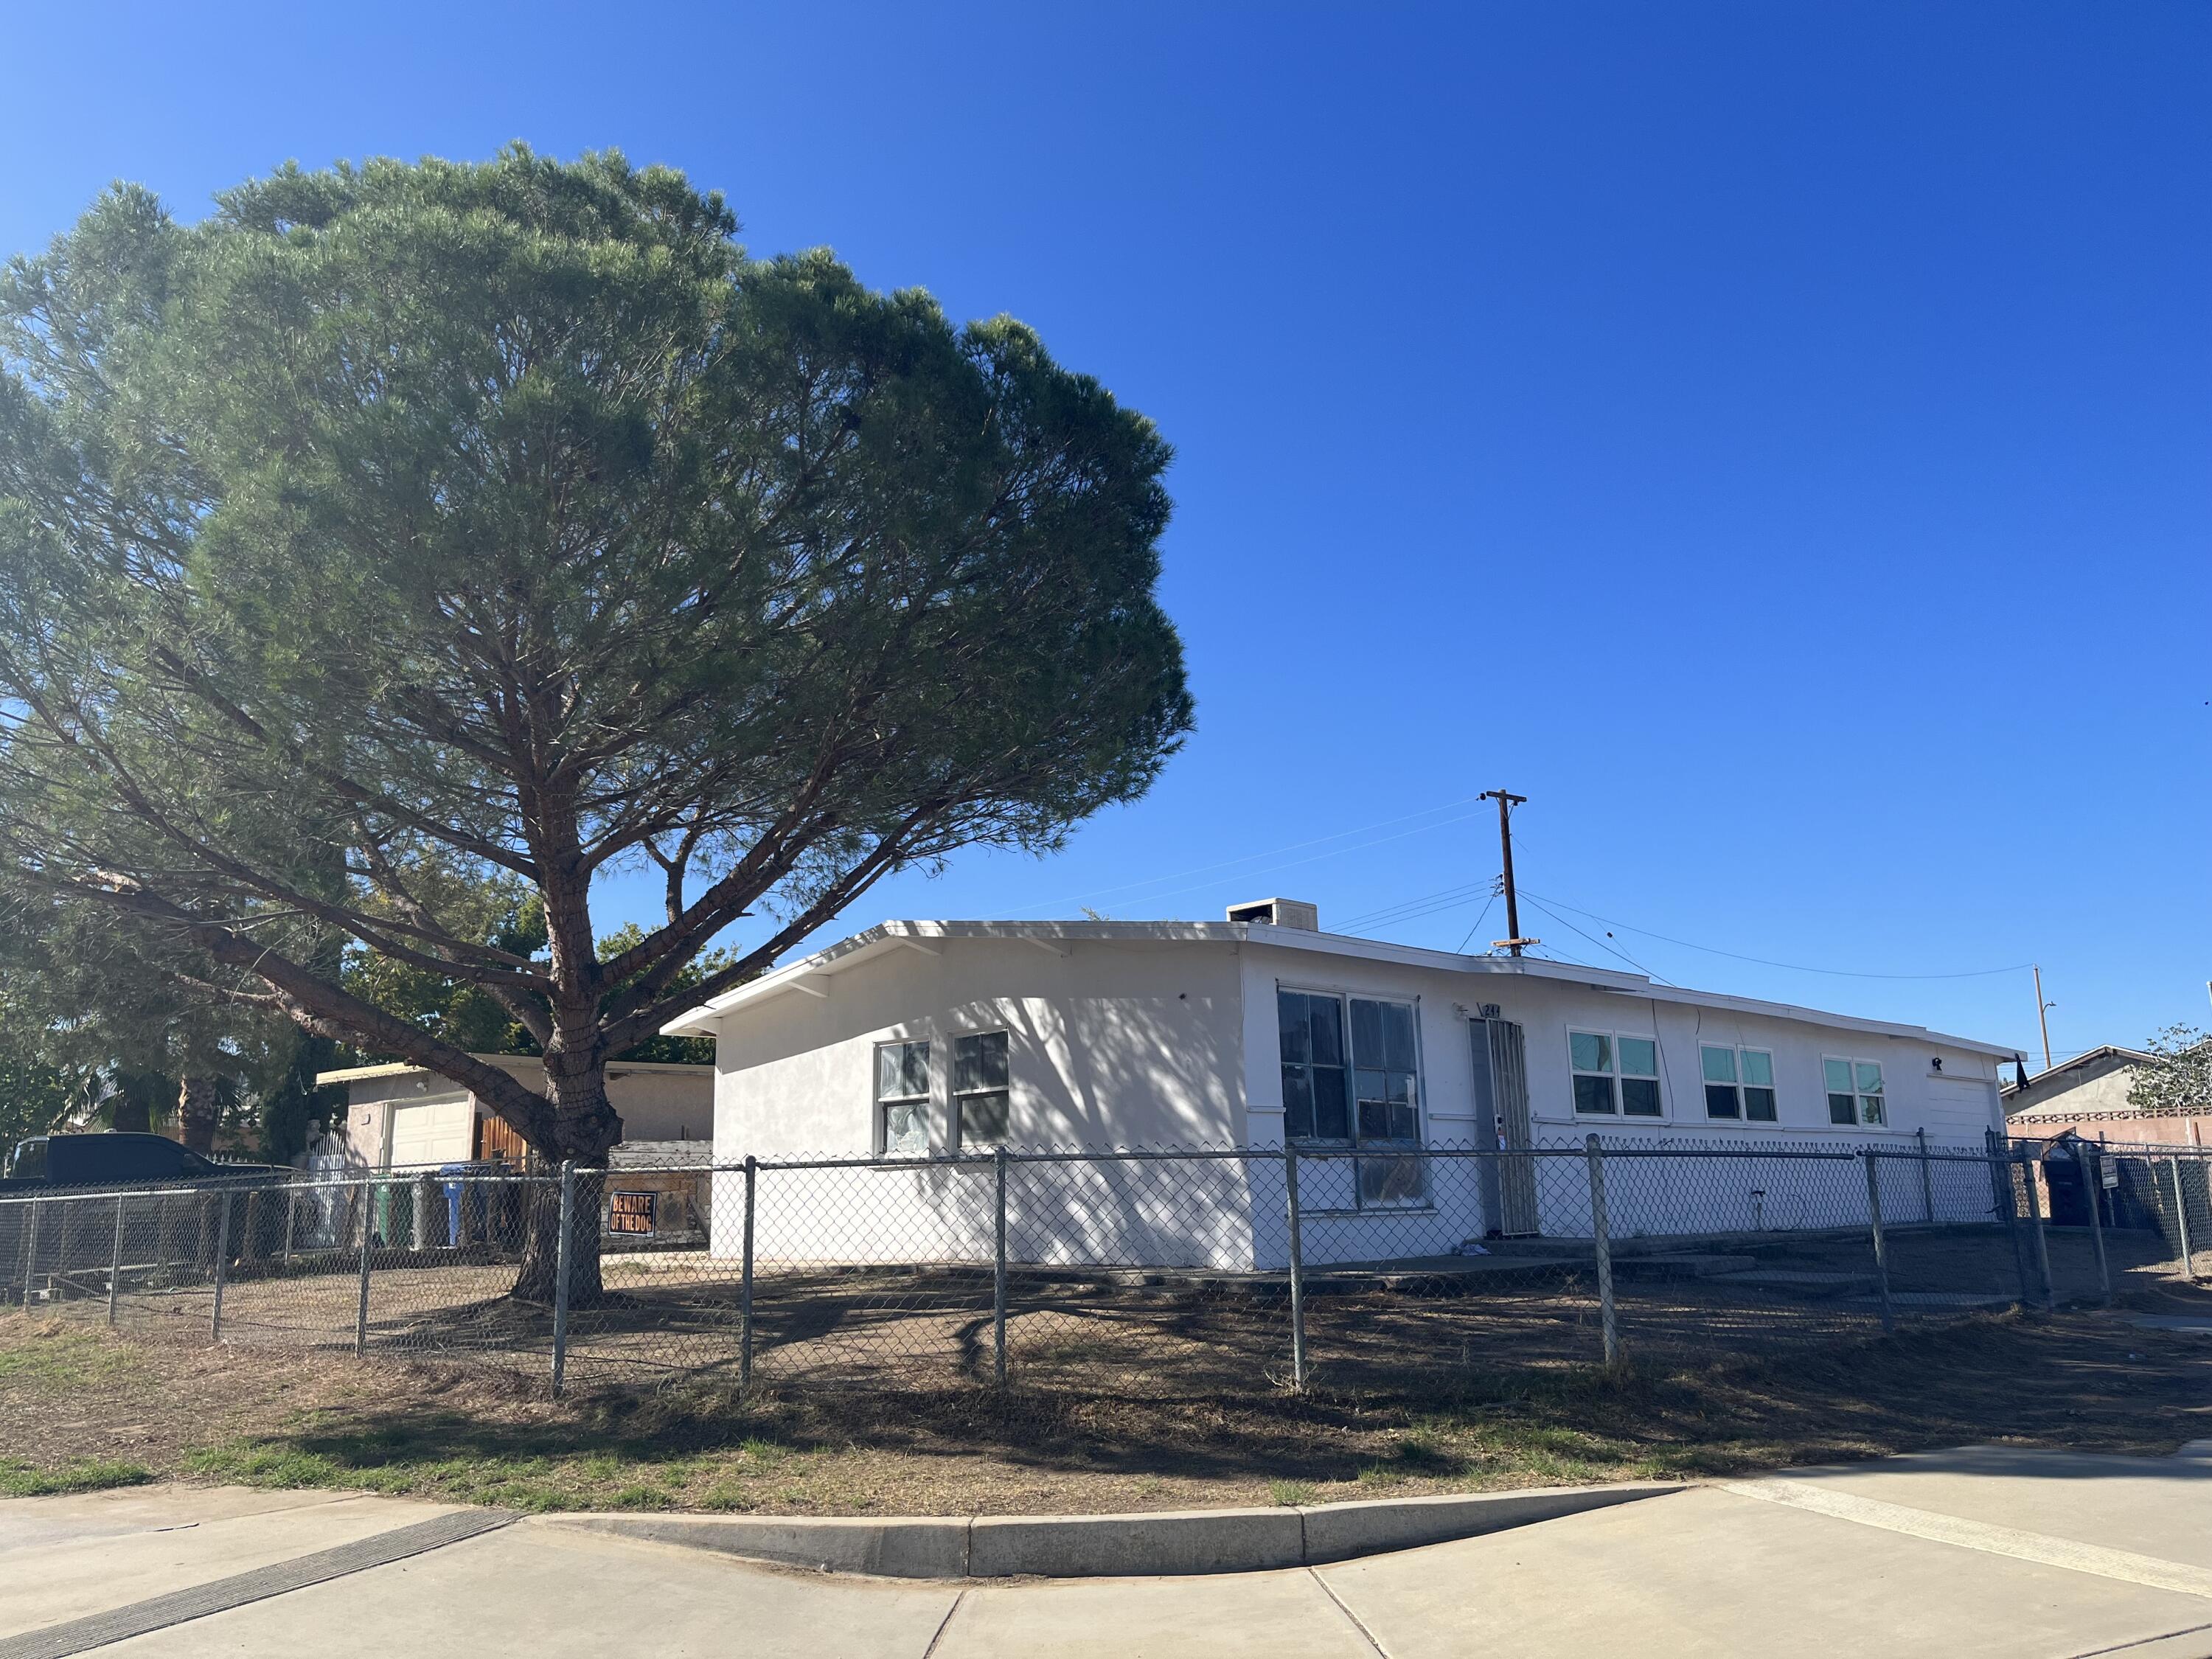
[[[1188,750],[854,927],[1480,947],[1509,785],[1559,956],[2031,1057],[1975,971],[2042,962],[2059,1051],[2205,1020],[2212,9],[40,7],[0,250],[513,137],[1022,316],[1177,445]]]

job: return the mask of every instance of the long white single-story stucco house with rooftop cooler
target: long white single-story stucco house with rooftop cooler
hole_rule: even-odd
[[[717,1040],[717,1164],[1290,1141],[1316,1152],[1301,1175],[1307,1256],[1336,1261],[1449,1250],[1471,1212],[1478,1232],[1588,1230],[1579,1177],[1537,1179],[1535,1159],[1405,1157],[1420,1148],[1579,1146],[1590,1130],[1615,1146],[1902,1148],[1924,1133],[1980,1152],[2004,1126],[1997,1062],[2011,1048],[1995,1044],[1610,969],[1323,933],[1310,905],[1287,900],[1230,918],[885,922],[666,1031]],[[1349,1150],[1371,1155],[1354,1164]],[[1126,1221],[1139,1172],[1057,1168],[1068,1170],[1057,1225]],[[1179,1225],[1203,1241],[1199,1254],[1219,1265],[1274,1256],[1279,1161],[1172,1172],[1183,1188],[1161,1203],[1186,1212]],[[849,1172],[832,1175],[852,1186]],[[790,1194],[792,1179],[779,1175],[776,1190]],[[891,1179],[905,1183],[896,1203],[825,1186],[814,1208],[841,1212],[845,1243],[821,1250],[927,1259],[975,1225],[969,1186],[929,1170]],[[1042,1181],[1024,1177],[1024,1190]],[[1444,1183],[1467,1190],[1447,1203]],[[1650,1194],[1666,1183],[1644,1186],[1644,1201],[1661,1203]],[[1765,1201],[1770,1225],[1809,1212],[1778,1190]],[[1710,1203],[1714,1230],[1759,1225]],[[805,1210],[763,1199],[763,1230],[785,1230],[805,1252]],[[860,1212],[880,1225],[856,1232]],[[776,1245],[763,1234],[761,1248]]]

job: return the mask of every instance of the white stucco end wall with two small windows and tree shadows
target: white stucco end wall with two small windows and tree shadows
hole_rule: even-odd
[[[717,1042],[714,1159],[874,1157],[876,1044],[929,1042],[929,1150],[956,1150],[951,1042],[1006,1033],[1009,1144],[1029,1150],[1228,1146],[1243,1121],[1234,945],[947,938],[896,949],[737,1011]],[[717,1177],[737,1214],[741,1175]],[[1037,1263],[1252,1261],[1241,1164],[1015,1166],[1009,1250]],[[991,1261],[989,1170],[774,1170],[763,1259]],[[721,1239],[730,1228],[717,1230]]]

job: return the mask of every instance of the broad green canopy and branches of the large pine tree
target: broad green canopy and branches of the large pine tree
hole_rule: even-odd
[[[613,153],[117,186],[0,276],[0,889],[241,1073],[290,1020],[597,1159],[688,1002],[1150,787],[1168,460],[1022,323]],[[664,916],[602,940],[622,872]],[[551,1093],[471,1060],[520,1044]]]

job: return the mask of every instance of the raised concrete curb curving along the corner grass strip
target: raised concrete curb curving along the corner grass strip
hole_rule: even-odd
[[[1380,1551],[1447,1544],[1509,1526],[1661,1498],[1686,1486],[1630,1480],[1610,1486],[1378,1498],[1303,1509],[1186,1509],[1144,1515],[544,1515],[655,1544],[900,1579],[1157,1577],[1323,1566]]]

